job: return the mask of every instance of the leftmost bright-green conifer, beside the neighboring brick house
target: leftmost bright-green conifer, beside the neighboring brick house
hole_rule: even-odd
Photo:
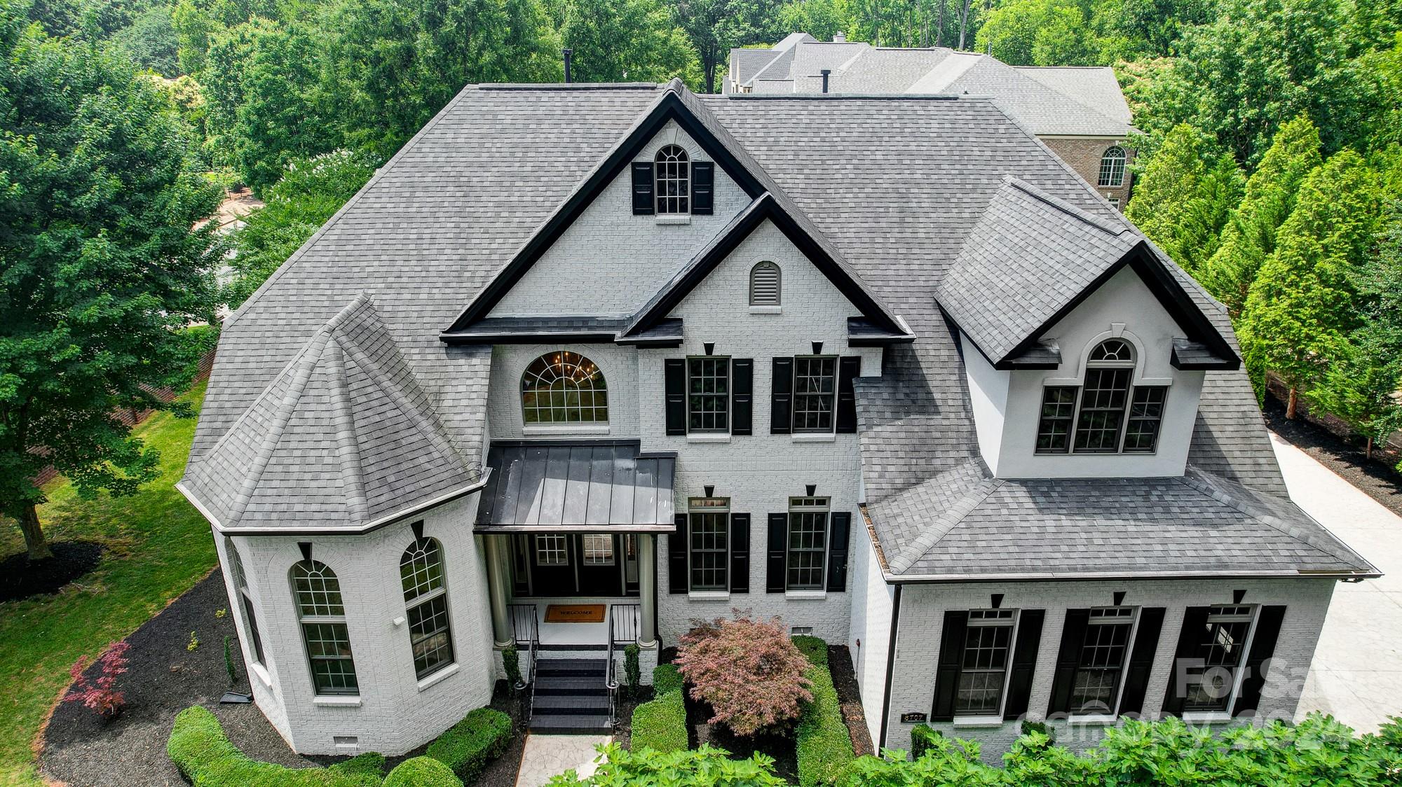
[[[1136,179],[1124,216],[1189,273],[1211,256],[1217,237],[1242,192],[1242,175],[1228,154],[1210,155],[1210,139],[1175,126]]]

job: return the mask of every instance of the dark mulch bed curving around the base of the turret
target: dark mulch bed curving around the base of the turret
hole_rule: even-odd
[[[129,671],[118,678],[118,689],[126,695],[125,710],[104,723],[80,703],[60,703],[45,732],[39,760],[45,774],[74,787],[185,784],[165,756],[165,739],[175,714],[192,704],[212,710],[229,739],[254,759],[289,767],[346,759],[301,756],[287,746],[252,703],[219,704],[219,697],[229,690],[226,636],[231,639],[237,690],[248,690],[248,675],[227,608],[223,576],[215,571],[128,637]],[[226,611],[222,618],[216,616],[220,609]],[[186,650],[191,632],[199,637],[199,647],[193,651]],[[88,675],[95,676],[97,671],[90,669]],[[496,682],[492,707],[508,713],[517,730],[523,728],[523,696],[510,695],[505,681]],[[515,784],[523,746],[524,735],[513,737],[512,748],[488,766],[478,784]],[[422,755],[426,748],[390,758],[390,767]]]

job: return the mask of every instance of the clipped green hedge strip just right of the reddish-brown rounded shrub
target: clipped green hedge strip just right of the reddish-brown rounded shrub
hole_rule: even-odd
[[[802,640],[802,641],[801,641]],[[833,784],[847,774],[857,759],[852,739],[843,721],[843,707],[837,702],[837,688],[827,668],[827,643],[817,637],[794,637],[813,667],[803,675],[813,682],[813,702],[803,703],[795,730],[798,755],[798,783],[802,787]]]

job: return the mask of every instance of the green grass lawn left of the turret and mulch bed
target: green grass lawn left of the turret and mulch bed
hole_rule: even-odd
[[[205,385],[182,399],[198,410]],[[136,434],[161,454],[157,480],[133,497],[83,500],[56,479],[39,511],[49,541],[107,548],[97,570],[59,595],[0,604],[0,784],[42,784],[31,746],[69,667],[132,633],[215,566],[209,524],[174,487],[195,419],[157,413]],[[22,549],[20,528],[0,524],[0,556]]]

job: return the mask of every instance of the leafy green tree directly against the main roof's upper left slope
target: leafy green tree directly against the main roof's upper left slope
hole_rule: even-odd
[[[248,216],[234,232],[237,252],[230,260],[234,280],[222,300],[237,308],[301,244],[355,196],[381,164],[369,154],[338,150],[287,164],[266,190],[266,206]]]

